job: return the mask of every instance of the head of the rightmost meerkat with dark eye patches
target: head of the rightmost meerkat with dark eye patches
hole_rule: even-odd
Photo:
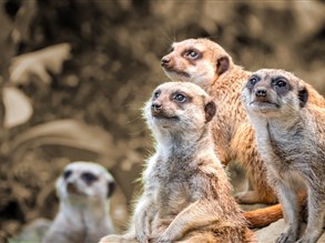
[[[254,72],[243,89],[242,100],[248,112],[263,117],[293,114],[304,108],[308,92],[304,81],[274,69]]]

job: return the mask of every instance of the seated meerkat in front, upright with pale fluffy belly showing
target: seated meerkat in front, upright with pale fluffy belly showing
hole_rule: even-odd
[[[167,82],[155,89],[144,117],[156,151],[143,173],[144,191],[131,230],[101,243],[256,242],[214,152],[214,102],[193,83]]]

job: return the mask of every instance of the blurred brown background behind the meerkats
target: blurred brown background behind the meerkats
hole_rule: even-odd
[[[114,175],[123,229],[153,151],[141,108],[167,81],[173,41],[210,38],[247,70],[286,69],[325,94],[324,0],[0,4],[0,239],[53,219],[54,181],[75,160]]]

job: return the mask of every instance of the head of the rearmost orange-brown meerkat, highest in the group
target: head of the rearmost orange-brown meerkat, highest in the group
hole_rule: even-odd
[[[204,88],[230,70],[233,61],[222,47],[209,39],[187,39],[174,42],[161,65],[171,80]]]

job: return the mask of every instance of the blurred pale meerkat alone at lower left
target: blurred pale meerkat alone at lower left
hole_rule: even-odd
[[[114,186],[113,176],[100,164],[68,164],[55,183],[59,213],[42,242],[90,243],[114,233],[109,215]]]

